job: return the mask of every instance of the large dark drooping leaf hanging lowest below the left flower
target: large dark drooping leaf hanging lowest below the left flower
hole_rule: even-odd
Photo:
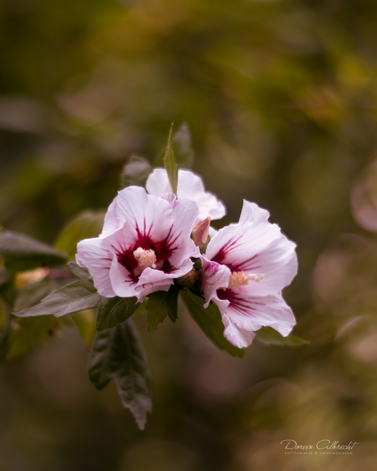
[[[144,429],[147,412],[152,410],[152,388],[148,360],[131,319],[97,335],[89,377],[99,390],[113,379],[123,406]]]

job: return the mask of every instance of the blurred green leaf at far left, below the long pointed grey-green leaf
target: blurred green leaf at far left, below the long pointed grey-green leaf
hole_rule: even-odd
[[[60,323],[54,316],[21,318],[12,321],[7,358],[17,357],[44,340],[49,340]]]

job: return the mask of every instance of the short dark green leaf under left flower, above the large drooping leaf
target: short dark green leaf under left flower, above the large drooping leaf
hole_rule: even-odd
[[[138,309],[140,303],[134,296],[132,298],[102,298],[97,310],[97,330],[112,329],[122,324]]]

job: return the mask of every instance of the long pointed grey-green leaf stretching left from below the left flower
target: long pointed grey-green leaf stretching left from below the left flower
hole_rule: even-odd
[[[102,296],[98,294],[91,280],[78,280],[49,294],[37,306],[15,314],[20,317],[46,314],[60,317],[83,309],[96,308],[101,301]]]

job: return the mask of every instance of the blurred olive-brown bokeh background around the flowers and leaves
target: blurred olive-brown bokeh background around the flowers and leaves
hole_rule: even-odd
[[[246,198],[298,244],[284,295],[311,342],[240,360],[182,307],[152,339],[140,311],[154,377],[140,432],[66,327],[0,365],[0,470],[375,470],[377,3],[2,0],[0,25],[2,225],[54,243],[187,122],[193,169],[228,207],[214,225]],[[360,444],[287,456],[285,439]]]

